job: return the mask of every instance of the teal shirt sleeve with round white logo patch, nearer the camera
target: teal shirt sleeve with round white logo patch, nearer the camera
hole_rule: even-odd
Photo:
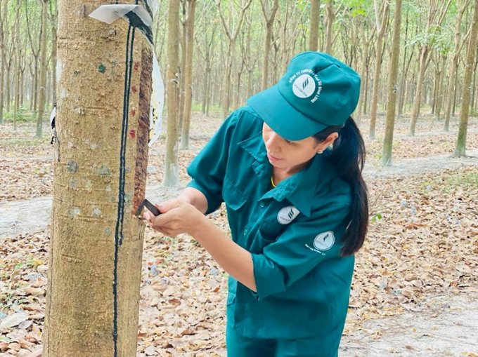
[[[349,222],[349,206],[328,206],[303,222],[291,223],[261,254],[252,254],[261,300],[287,290],[323,260],[340,257],[340,237]]]

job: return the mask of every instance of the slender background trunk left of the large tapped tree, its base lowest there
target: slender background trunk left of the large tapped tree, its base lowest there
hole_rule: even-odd
[[[41,137],[41,128],[43,126],[43,113],[46,102],[46,70],[48,69],[48,60],[46,59],[46,50],[49,43],[46,42],[48,37],[48,0],[41,0],[41,55],[40,55],[40,76],[39,76],[39,93],[38,93],[38,116],[37,116],[37,133],[35,137]]]

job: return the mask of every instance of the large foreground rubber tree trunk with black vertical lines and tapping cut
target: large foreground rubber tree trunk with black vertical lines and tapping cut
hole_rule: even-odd
[[[153,55],[104,4],[58,2],[53,223],[43,357],[134,357]],[[133,87],[136,87],[136,90]]]

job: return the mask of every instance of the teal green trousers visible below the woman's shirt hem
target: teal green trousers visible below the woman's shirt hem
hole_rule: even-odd
[[[253,339],[226,328],[227,357],[337,357],[340,340],[330,345],[323,337]],[[325,345],[324,345],[325,344]]]

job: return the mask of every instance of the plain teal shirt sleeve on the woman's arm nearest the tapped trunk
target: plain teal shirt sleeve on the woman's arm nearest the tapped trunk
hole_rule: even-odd
[[[206,215],[217,210],[224,201],[222,185],[226,175],[231,139],[238,121],[237,116],[238,114],[234,112],[222,123],[217,133],[188,166],[188,175],[192,180],[186,187],[198,189],[206,196]]]

